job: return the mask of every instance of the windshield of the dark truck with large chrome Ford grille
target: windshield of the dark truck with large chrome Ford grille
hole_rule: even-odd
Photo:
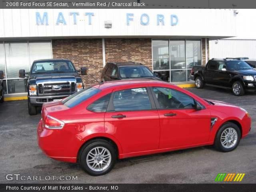
[[[34,62],[32,74],[37,73],[68,73],[75,72],[75,68],[70,61],[41,61]]]

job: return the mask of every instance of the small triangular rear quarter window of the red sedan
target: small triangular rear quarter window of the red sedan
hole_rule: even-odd
[[[106,112],[111,93],[107,94],[90,104],[87,109],[93,112]]]

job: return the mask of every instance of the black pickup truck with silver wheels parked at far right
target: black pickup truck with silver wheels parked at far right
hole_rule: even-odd
[[[208,61],[206,66],[194,66],[190,79],[195,81],[197,88],[204,84],[212,84],[231,88],[235,96],[244,92],[256,91],[256,70],[246,62],[238,59],[215,59]]]

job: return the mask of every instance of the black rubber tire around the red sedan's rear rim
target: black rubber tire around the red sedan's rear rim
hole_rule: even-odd
[[[111,154],[111,161],[110,161],[109,165],[102,171],[92,170],[86,162],[88,153],[96,147],[106,148],[108,150],[108,152],[110,152],[110,154]],[[79,154],[78,158],[79,158],[79,164],[80,164],[81,168],[86,173],[88,173],[89,175],[92,175],[92,176],[100,176],[100,175],[107,174],[108,172],[110,172],[112,170],[112,168],[116,164],[117,152],[116,152],[115,147],[110,142],[108,142],[106,140],[102,140],[102,139],[97,139],[97,140],[92,140],[92,141],[88,142],[86,145],[84,145],[82,147],[82,149],[80,150],[80,154]]]

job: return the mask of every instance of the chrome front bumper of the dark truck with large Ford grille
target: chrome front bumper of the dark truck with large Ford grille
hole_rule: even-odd
[[[51,95],[51,96],[28,96],[30,104],[42,106],[43,103],[52,102],[54,100],[63,99],[70,95]]]

